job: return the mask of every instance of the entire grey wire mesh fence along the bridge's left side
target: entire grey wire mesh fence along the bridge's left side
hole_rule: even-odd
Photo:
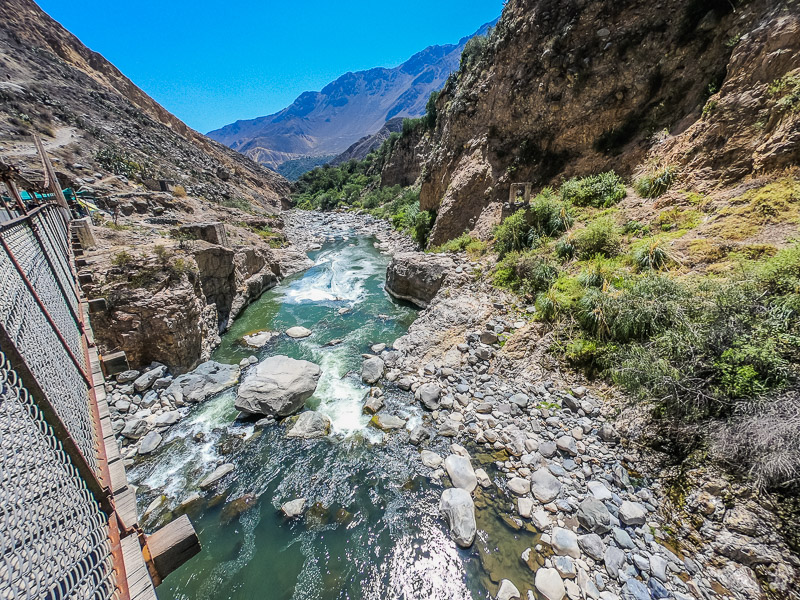
[[[62,210],[0,224],[0,600],[127,596],[85,477],[102,477],[103,440]]]

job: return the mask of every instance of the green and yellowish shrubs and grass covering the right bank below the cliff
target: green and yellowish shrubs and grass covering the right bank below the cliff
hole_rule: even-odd
[[[556,355],[653,401],[677,447],[693,451],[708,439],[697,432],[715,429],[718,458],[763,486],[793,485],[798,462],[782,448],[798,447],[797,427],[740,436],[800,379],[800,245],[739,240],[770,224],[796,231],[800,180],[751,186],[723,207],[678,192],[682,205],[643,221],[630,218],[638,199],[606,208],[570,192],[586,181],[545,188],[495,229],[495,285],[535,304]]]

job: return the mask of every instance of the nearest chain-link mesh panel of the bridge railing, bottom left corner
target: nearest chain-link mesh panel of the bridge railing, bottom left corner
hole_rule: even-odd
[[[118,598],[108,517],[0,352],[0,598]]]

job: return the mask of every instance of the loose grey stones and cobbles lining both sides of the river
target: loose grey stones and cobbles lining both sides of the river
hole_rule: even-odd
[[[797,560],[764,500],[710,469],[684,481],[676,500],[664,457],[626,437],[636,428],[625,399],[562,371],[532,309],[488,286],[465,256],[410,254],[407,239],[353,214],[293,212],[287,232],[312,251],[343,232],[374,236],[395,254],[389,280],[427,306],[405,335],[374,339],[364,352],[363,411],[381,439],[414,448],[413,469],[438,489],[440,526],[457,546],[478,548],[489,596],[755,600],[764,597],[760,577],[775,597],[793,597]],[[420,278],[435,280],[433,295]],[[125,457],[146,459],[194,403],[231,388],[259,360],[205,363],[177,379],[151,365],[109,384]],[[330,420],[316,411],[283,435],[295,430],[317,438],[304,443],[330,443],[319,439]],[[231,472],[232,462],[218,461],[200,489]],[[293,519],[312,504],[273,499]]]

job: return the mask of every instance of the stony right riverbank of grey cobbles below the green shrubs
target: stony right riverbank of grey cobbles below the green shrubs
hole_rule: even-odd
[[[388,373],[440,390],[431,436],[496,454],[490,489],[509,519],[542,532],[522,558],[529,581],[512,582],[522,595],[796,598],[797,557],[771,500],[650,450],[646,407],[563,370],[531,310],[479,277],[445,282]]]

